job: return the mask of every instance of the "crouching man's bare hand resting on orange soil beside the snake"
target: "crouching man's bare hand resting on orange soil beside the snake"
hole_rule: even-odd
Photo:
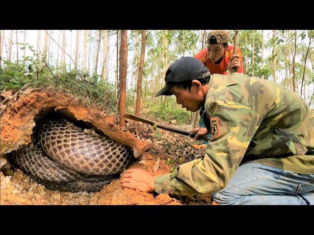
[[[155,191],[155,178],[144,170],[129,169],[121,177],[123,188],[138,189],[142,192]]]

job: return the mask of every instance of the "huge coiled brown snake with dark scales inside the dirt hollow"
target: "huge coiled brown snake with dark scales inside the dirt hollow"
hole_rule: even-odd
[[[134,159],[131,147],[66,120],[46,122],[34,140],[13,151],[10,159],[48,189],[100,191]]]

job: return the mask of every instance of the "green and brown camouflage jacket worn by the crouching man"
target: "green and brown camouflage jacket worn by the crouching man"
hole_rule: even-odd
[[[211,140],[204,159],[158,176],[158,193],[194,196],[225,188],[253,161],[314,174],[314,111],[287,88],[241,73],[214,74],[205,99]]]

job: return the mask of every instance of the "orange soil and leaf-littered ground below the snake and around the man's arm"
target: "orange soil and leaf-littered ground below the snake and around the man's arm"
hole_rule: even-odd
[[[118,117],[115,117],[115,123],[118,123]],[[124,130],[132,133],[139,140],[162,146],[166,153],[162,159],[154,156],[152,160],[136,161],[129,168],[140,168],[157,176],[170,173],[172,167],[179,164],[204,156],[204,151],[195,148],[197,146],[193,147],[195,141],[180,134],[157,129],[161,134],[159,137],[152,126],[131,120],[127,120]],[[15,170],[10,176],[0,172],[0,189],[1,205],[210,205],[211,202],[208,195],[196,198],[172,198],[168,194],[158,195],[122,188],[120,179],[113,180],[100,192],[94,193],[49,190],[35,183],[21,170]]]

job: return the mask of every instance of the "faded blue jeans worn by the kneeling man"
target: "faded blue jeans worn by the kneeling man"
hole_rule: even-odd
[[[248,162],[212,197],[220,205],[314,205],[314,174]]]

